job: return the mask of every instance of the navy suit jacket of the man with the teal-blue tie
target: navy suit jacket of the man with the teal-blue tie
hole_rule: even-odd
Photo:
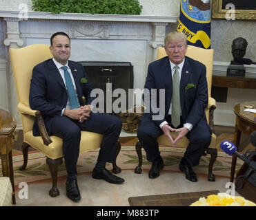
[[[86,98],[86,104],[90,104],[94,99],[90,96],[93,88],[88,82],[83,66],[74,61],[68,61],[68,66],[75,80],[79,104],[83,105],[83,96]],[[87,83],[81,83],[81,78],[86,78]],[[29,102],[31,109],[41,111],[46,130],[50,134],[51,119],[61,115],[62,109],[66,108],[68,102],[66,86],[52,59],[43,61],[34,67],[30,81]],[[33,135],[40,135],[37,120],[33,126]]]

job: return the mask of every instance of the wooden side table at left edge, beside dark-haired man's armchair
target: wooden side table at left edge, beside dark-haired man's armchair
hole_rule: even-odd
[[[12,114],[0,109],[0,155],[3,177],[10,177],[12,183],[12,204],[16,204],[14,191],[14,175],[12,167],[12,135],[16,122]]]

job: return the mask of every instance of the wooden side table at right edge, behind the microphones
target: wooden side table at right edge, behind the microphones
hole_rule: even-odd
[[[254,120],[255,115],[252,112],[244,111],[246,106],[252,106],[253,109],[256,109],[256,101],[255,102],[242,102],[237,104],[234,108],[235,115],[237,116],[235,121],[235,137],[234,144],[237,146],[237,151],[243,151],[244,148],[239,147],[241,133],[246,135],[250,135],[253,131],[256,131],[256,122]],[[232,157],[232,166],[230,173],[230,182],[234,181],[235,175],[235,166],[237,164],[237,157],[233,155]]]

